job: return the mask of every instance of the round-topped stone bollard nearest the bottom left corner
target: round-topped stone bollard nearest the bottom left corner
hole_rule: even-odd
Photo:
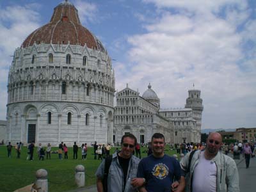
[[[36,171],[36,188],[38,192],[48,192],[48,180],[47,180],[47,171],[40,169]]]

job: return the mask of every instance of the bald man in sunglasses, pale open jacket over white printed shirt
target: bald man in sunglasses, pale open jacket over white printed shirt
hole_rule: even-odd
[[[239,192],[236,163],[231,157],[220,152],[221,135],[212,132],[206,143],[205,150],[196,150],[193,156],[187,154],[180,161],[184,173],[189,174],[186,191]]]

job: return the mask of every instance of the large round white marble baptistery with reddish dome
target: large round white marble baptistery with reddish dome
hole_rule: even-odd
[[[114,93],[108,52],[64,1],[14,52],[6,141],[113,143]]]

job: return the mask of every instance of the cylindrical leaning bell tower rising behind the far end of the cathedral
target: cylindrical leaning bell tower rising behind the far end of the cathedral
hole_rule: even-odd
[[[202,112],[204,110],[203,100],[200,98],[200,90],[189,90],[185,108],[193,110],[193,118],[196,120],[196,130],[194,132],[196,140],[200,142],[202,129]]]

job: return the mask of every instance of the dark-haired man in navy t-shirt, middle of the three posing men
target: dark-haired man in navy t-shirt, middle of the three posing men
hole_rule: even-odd
[[[153,154],[142,159],[138,166],[137,177],[145,178],[140,192],[183,191],[185,179],[181,177],[180,164],[175,158],[164,154],[163,134],[155,133],[151,141]]]

